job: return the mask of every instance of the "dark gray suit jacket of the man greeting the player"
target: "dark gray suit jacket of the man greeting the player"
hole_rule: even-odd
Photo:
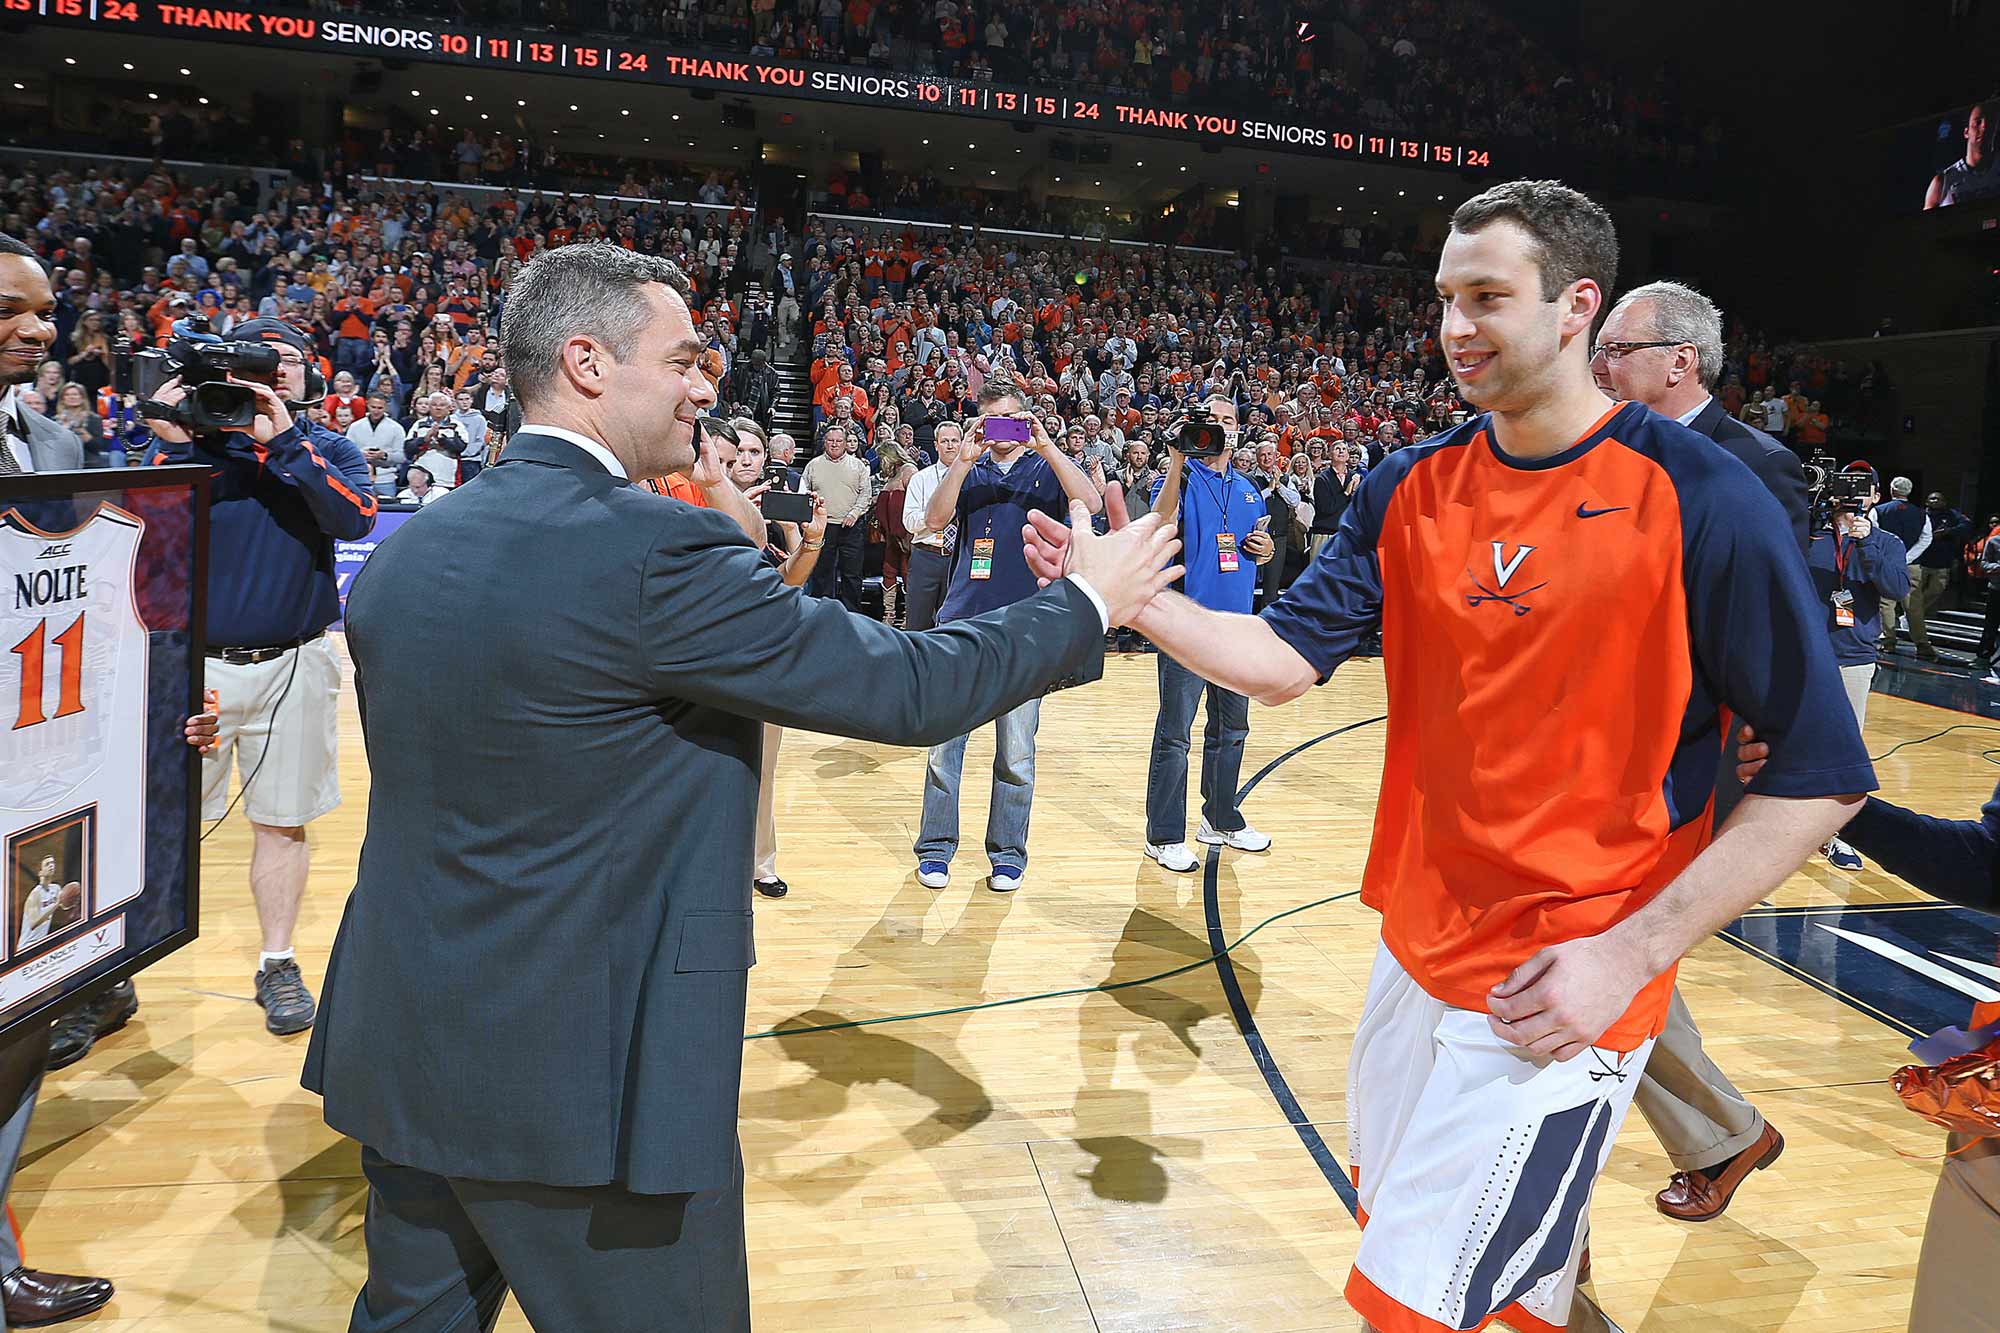
[[[390,1161],[638,1193],[734,1177],[760,723],[932,745],[1104,664],[1072,582],[902,634],[532,432],[346,628],[372,795],[306,1087]]]

